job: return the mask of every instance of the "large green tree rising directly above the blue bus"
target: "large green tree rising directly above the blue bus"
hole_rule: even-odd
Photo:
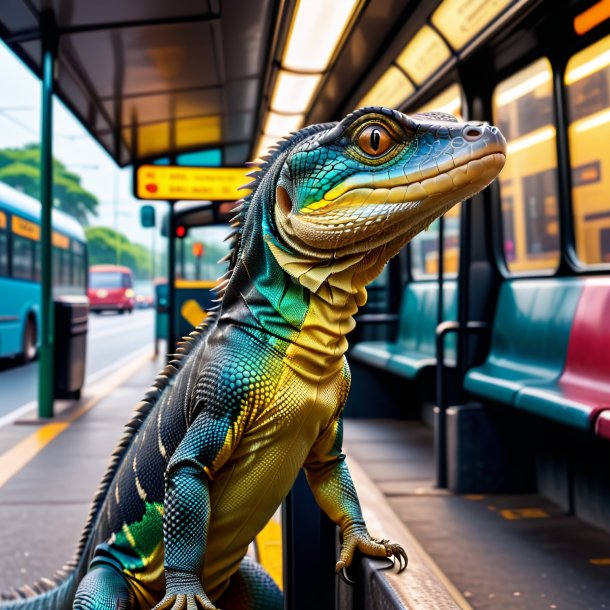
[[[40,147],[0,149],[0,181],[40,201]],[[97,197],[81,186],[81,178],[59,160],[53,159],[53,202],[81,224],[97,215]]]

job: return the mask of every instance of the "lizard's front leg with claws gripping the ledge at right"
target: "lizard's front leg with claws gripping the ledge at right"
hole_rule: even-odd
[[[336,419],[321,434],[305,463],[309,486],[320,508],[341,528],[341,553],[335,566],[345,576],[356,549],[372,557],[396,557],[399,571],[407,567],[404,549],[389,540],[377,540],[370,536],[358,495],[341,452],[343,420]],[[349,580],[349,579],[348,579]]]

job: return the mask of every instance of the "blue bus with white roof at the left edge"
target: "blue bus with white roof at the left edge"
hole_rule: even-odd
[[[38,201],[0,182],[0,357],[23,362],[40,344],[40,212]],[[82,226],[53,210],[54,295],[86,294]]]

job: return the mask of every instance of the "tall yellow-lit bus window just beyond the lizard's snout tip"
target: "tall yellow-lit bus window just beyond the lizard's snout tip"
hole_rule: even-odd
[[[494,123],[507,142],[500,174],[503,251],[511,273],[559,265],[557,153],[551,64],[541,58],[501,82]]]

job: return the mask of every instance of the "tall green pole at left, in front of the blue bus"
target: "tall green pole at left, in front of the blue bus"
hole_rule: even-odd
[[[51,11],[41,14],[42,124],[40,133],[40,361],[38,366],[38,416],[53,417],[53,78],[57,40]]]

